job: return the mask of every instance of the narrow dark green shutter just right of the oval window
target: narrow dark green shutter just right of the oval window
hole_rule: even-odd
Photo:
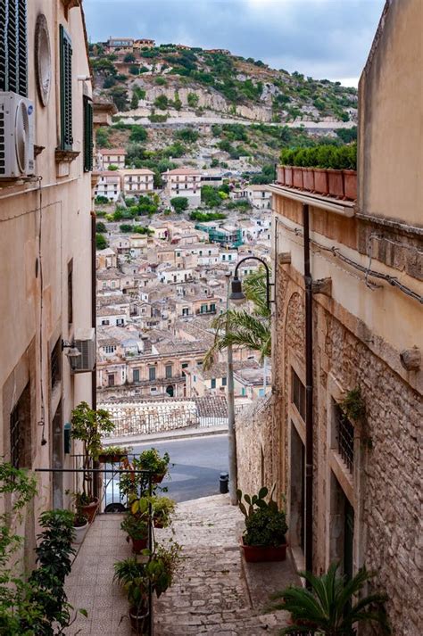
[[[72,136],[72,43],[71,37],[60,25],[60,101],[61,148],[71,150]]]

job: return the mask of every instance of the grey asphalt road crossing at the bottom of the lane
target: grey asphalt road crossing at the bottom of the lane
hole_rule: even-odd
[[[170,478],[162,486],[176,501],[187,501],[219,493],[220,472],[228,472],[228,435],[208,435],[134,446],[134,452],[154,447],[170,455]]]

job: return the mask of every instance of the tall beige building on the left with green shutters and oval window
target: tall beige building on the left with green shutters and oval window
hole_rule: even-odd
[[[6,160],[0,168],[0,455],[35,470],[71,467],[75,450],[64,449],[64,425],[79,401],[95,399],[92,374],[72,374],[69,348],[62,347],[95,326],[93,104],[79,3],[16,5],[20,20],[6,15],[0,51],[2,117],[20,103],[9,135],[21,126],[13,151],[25,151],[19,169],[11,169],[14,155],[4,152],[4,136],[0,140]],[[42,497],[29,504],[20,531],[28,565],[39,513],[62,507],[65,489],[74,490],[60,473],[39,474],[37,481]],[[10,505],[0,499],[0,508]]]

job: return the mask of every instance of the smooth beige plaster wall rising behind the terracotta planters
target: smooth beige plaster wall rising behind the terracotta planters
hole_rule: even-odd
[[[360,81],[360,210],[423,226],[423,4],[391,0]]]

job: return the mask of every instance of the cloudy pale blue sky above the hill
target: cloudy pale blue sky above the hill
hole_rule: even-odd
[[[226,48],[274,69],[357,86],[385,0],[84,0],[91,42]]]

